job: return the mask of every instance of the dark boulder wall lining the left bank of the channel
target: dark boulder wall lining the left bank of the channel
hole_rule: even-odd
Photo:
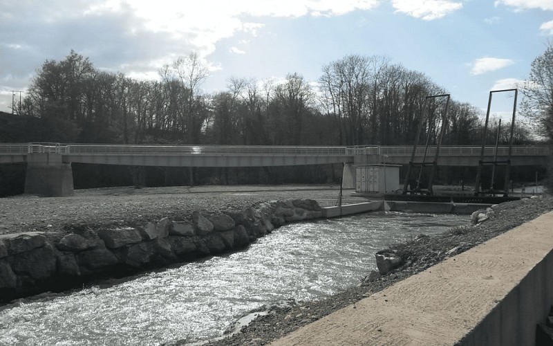
[[[0,302],[233,251],[279,226],[321,215],[317,201],[294,199],[219,215],[195,211],[138,226],[0,235]]]

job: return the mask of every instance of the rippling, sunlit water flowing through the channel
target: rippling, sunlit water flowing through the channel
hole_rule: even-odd
[[[358,284],[375,252],[467,215],[375,212],[283,226],[247,250],[0,307],[0,345],[159,345],[221,336],[248,311]]]

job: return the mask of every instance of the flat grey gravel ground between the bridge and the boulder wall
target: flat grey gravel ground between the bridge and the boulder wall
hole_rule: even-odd
[[[344,190],[344,199],[365,201],[348,197],[352,192]],[[195,210],[205,215],[242,210],[274,199],[315,199],[321,206],[334,206],[338,195],[339,186],[331,185],[126,187],[75,190],[73,197],[20,195],[0,199],[0,235],[30,231],[63,234],[79,224],[146,224],[163,217],[191,215]]]

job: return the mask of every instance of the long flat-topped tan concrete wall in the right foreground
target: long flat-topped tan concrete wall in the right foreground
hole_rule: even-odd
[[[534,345],[553,295],[553,212],[271,345]]]

